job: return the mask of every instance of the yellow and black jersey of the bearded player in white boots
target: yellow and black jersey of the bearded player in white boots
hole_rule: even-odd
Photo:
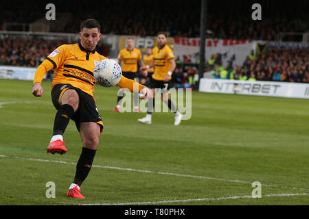
[[[168,60],[174,58],[174,53],[172,49],[165,44],[161,49],[159,47],[152,49],[152,55],[155,61],[155,73],[153,73],[152,78],[157,81],[163,81],[170,70],[170,62]]]

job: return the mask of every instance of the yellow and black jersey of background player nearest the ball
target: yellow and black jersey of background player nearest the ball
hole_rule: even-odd
[[[120,50],[118,60],[122,61],[122,71],[136,73],[137,63],[141,60],[141,51],[137,48]]]

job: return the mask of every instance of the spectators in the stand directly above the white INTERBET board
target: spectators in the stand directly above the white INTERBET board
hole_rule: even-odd
[[[260,55],[248,55],[242,66],[214,66],[211,73],[221,79],[309,83],[309,49],[268,48]]]

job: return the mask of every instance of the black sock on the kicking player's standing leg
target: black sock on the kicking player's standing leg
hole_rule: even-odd
[[[73,183],[82,185],[82,182],[87,178],[89,171],[91,170],[92,162],[95,157],[95,151],[92,149],[87,149],[82,147],[82,153],[80,154],[80,159],[76,164],[76,174]]]

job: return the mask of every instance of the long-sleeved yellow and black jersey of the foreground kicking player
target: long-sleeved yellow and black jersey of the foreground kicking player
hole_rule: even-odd
[[[34,83],[41,82],[44,75],[55,69],[52,88],[58,83],[69,83],[83,92],[93,96],[96,80],[93,77],[95,64],[107,59],[95,50],[87,51],[80,43],[63,44],[50,53],[44,62],[38,66],[34,75]],[[117,84],[121,88],[133,90],[133,80],[123,77]],[[52,89],[51,88],[51,89]],[[139,91],[143,88],[139,84]]]

